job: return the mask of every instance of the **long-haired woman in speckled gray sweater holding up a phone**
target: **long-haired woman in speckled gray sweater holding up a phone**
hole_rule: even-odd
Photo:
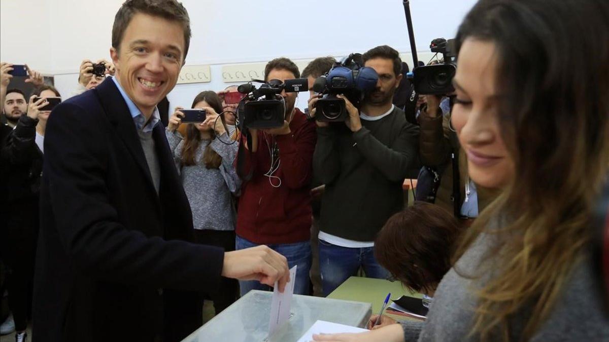
[[[200,92],[192,108],[206,111],[204,122],[186,124],[183,138],[177,131],[183,108],[177,107],[165,133],[191,206],[195,241],[234,251],[233,197],[241,189],[233,167],[238,144],[228,137],[224,116],[218,114],[222,113],[222,101],[215,92]],[[218,293],[209,293],[216,314],[236,300],[237,285],[234,279],[222,278]]]

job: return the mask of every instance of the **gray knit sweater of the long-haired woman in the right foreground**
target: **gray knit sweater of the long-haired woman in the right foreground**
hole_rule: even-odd
[[[483,234],[457,261],[460,274],[479,274],[481,260],[496,259],[489,256],[495,235]],[[473,323],[476,305],[471,288],[479,288],[488,281],[488,276],[467,279],[452,268],[443,277],[435,292],[425,323],[404,322],[406,341],[475,341],[468,337]],[[587,252],[565,283],[563,292],[555,302],[551,315],[540,326],[530,341],[609,341],[609,317],[602,307],[602,293],[594,278],[591,256]],[[530,307],[520,310],[510,320],[510,338],[520,341]],[[421,330],[422,329],[422,330]],[[499,340],[499,338],[493,338]]]

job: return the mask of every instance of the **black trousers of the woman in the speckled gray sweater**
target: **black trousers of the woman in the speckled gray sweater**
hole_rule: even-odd
[[[224,248],[225,252],[234,251],[234,231],[214,231],[211,229],[195,229],[195,242]],[[214,302],[216,315],[233,304],[238,299],[239,282],[236,279],[222,277],[216,293],[208,293]]]

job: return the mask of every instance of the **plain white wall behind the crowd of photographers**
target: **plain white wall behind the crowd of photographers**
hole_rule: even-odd
[[[0,60],[27,61],[54,74],[55,85],[69,96],[83,58],[110,59],[111,27],[123,1],[0,0]],[[211,82],[177,85],[169,94],[172,106],[189,105],[202,90],[224,89],[222,64],[343,56],[381,44],[410,51],[401,0],[182,2],[192,29],[186,65],[210,64]],[[411,0],[417,50],[429,51],[433,38],[453,37],[474,2]],[[304,108],[307,98],[301,94],[298,106]]]

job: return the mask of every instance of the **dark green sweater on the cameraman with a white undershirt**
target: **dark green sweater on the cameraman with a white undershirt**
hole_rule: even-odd
[[[402,185],[418,158],[418,134],[395,106],[381,119],[362,119],[355,133],[342,124],[317,128],[313,172],[326,185],[323,232],[375,240],[387,219],[404,208]]]

